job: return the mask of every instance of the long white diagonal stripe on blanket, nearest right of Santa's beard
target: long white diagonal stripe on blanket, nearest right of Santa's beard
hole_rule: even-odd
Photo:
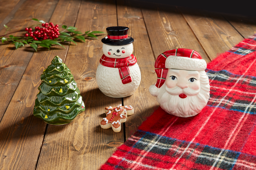
[[[256,58],[255,58],[256,60]],[[227,92],[227,94],[221,99],[224,100],[228,94],[232,91],[232,89],[236,86],[236,84],[240,81],[241,78],[243,78],[243,76],[246,74],[246,72],[252,67],[252,64],[255,62],[255,60],[250,64],[250,66],[245,70],[244,74],[236,81],[236,83],[229,89],[229,91]],[[220,103],[221,103],[220,102]],[[213,113],[216,111],[216,109],[220,106],[220,103],[217,105],[217,107],[215,107],[211,113],[211,115],[209,115],[206,119],[206,121],[204,122],[204,124],[201,126],[201,128],[198,130],[198,132],[196,133],[195,137],[189,142],[188,146],[186,147],[185,151],[180,155],[180,157],[176,160],[176,162],[173,164],[172,168],[170,170],[172,170],[176,164],[179,162],[180,158],[184,155],[184,153],[186,152],[186,150],[189,148],[190,144],[192,144],[194,142],[194,140],[196,139],[196,137],[199,135],[199,133],[202,131],[202,129],[204,129],[204,126],[206,125],[206,123],[209,121],[209,119],[212,117]],[[216,162],[216,161],[215,161]],[[215,165],[214,165],[215,166]],[[211,169],[213,169],[213,167]]]

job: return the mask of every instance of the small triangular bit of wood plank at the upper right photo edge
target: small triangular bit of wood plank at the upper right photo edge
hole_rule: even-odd
[[[256,34],[256,17],[223,15],[232,26],[244,37]]]

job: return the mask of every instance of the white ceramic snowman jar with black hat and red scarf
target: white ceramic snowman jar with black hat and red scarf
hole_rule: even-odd
[[[101,40],[104,54],[96,71],[96,82],[109,97],[131,96],[140,85],[140,68],[132,55],[134,40],[128,36],[128,30],[124,26],[108,27],[108,36]]]

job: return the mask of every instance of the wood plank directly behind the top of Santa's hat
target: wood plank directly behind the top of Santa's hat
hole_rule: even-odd
[[[210,59],[175,6],[152,4],[142,9],[155,57],[176,48],[196,50],[208,63]]]

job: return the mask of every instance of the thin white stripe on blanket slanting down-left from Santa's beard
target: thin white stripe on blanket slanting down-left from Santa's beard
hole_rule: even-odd
[[[160,134],[163,134],[163,136],[164,136],[164,134],[170,129],[170,127],[172,126],[172,124],[174,123],[174,122],[176,122],[177,121],[177,119],[178,119],[178,117],[173,121],[173,122],[170,122],[169,124],[167,124],[167,127],[168,128],[166,128],[165,129],[165,131],[164,131],[164,128],[163,128],[163,130],[160,132]],[[142,159],[144,159],[144,157],[151,151],[151,149],[159,142],[159,140],[162,138],[162,136],[161,137],[159,137],[158,138],[158,140],[156,141],[156,139],[157,139],[157,136],[154,138],[154,140],[150,140],[150,143],[152,143],[152,142],[154,142],[154,144],[150,144],[151,145],[151,147],[147,150],[147,148],[145,148],[145,150],[143,150],[143,154],[142,154],[142,157],[140,158],[140,157],[137,157],[136,158],[136,165],[133,167],[134,169],[141,163],[141,161],[142,161]],[[148,146],[150,146],[150,145],[148,145]],[[129,166],[129,168],[132,168],[132,166],[133,166],[134,164],[132,164],[131,166]]]

